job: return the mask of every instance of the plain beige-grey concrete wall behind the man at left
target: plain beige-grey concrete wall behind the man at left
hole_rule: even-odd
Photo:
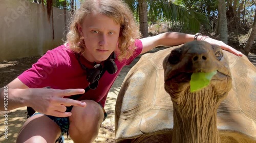
[[[67,11],[67,21],[69,18]],[[0,61],[42,55],[62,44],[66,40],[63,10],[53,8],[53,23],[54,39],[46,7],[27,0],[1,0]]]

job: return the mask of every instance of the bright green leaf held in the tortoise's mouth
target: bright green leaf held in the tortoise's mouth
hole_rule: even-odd
[[[217,73],[216,70],[209,73],[205,73],[205,72],[193,73],[190,79],[190,92],[196,92],[207,87],[210,83],[211,78],[216,73]]]

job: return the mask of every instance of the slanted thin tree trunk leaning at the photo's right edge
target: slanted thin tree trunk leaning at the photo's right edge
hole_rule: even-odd
[[[256,10],[255,10],[255,13],[256,13]],[[248,41],[247,41],[246,46],[244,48],[246,56],[248,56],[248,53],[251,50],[251,46],[252,46],[255,38],[256,38],[256,14],[254,14],[254,21],[253,21],[252,31],[251,31],[250,37],[248,38]]]

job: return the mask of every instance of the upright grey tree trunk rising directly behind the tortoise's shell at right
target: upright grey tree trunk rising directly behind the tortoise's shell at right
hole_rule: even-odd
[[[220,40],[227,44],[227,16],[225,0],[219,0],[219,31]]]

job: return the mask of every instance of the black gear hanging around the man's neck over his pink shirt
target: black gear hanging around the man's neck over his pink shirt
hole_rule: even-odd
[[[95,90],[99,85],[99,78],[104,74],[104,71],[108,71],[110,74],[117,72],[117,66],[115,63],[116,54],[113,52],[110,57],[104,61],[104,69],[101,64],[95,64],[92,69],[87,68],[80,62],[80,54],[78,54],[78,62],[82,69],[86,70],[88,87],[91,90]],[[103,73],[102,73],[103,71]]]

